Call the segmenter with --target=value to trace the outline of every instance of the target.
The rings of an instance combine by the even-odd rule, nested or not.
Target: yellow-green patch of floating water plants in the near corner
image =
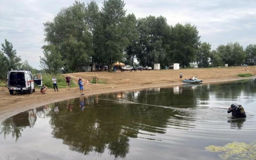
[[[221,152],[219,154],[222,159],[256,159],[256,142],[249,144],[241,142],[228,143],[223,146],[207,146],[205,150],[212,152]]]

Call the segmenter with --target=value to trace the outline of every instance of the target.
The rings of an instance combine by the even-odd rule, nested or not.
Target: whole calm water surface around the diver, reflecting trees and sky
[[[0,123],[0,159],[220,159],[205,147],[256,140],[255,85],[149,88],[34,108]],[[246,119],[227,113],[232,103]]]

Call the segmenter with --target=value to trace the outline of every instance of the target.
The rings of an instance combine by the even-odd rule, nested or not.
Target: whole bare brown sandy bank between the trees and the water
[[[246,69],[244,71],[243,69]],[[249,70],[249,71],[247,71]],[[180,70],[158,70],[137,72],[97,72],[100,80],[108,84],[84,85],[85,95],[102,94],[109,92],[139,90],[147,87],[164,87],[184,84],[179,80],[179,73],[183,73],[183,79],[198,76],[204,83],[221,82],[243,79],[237,77],[239,73],[251,73],[256,75],[256,67],[229,67],[229,68],[203,68],[203,69],[180,69]],[[94,73],[70,73],[71,76],[92,80]],[[73,77],[73,78],[74,78]],[[76,79],[76,78],[74,78]],[[52,87],[52,86],[51,86]],[[36,89],[32,94],[10,95],[6,87],[0,87],[0,120],[18,114],[30,108],[44,104],[79,97],[78,87],[59,89],[54,92],[48,89],[46,94],[41,94]]]

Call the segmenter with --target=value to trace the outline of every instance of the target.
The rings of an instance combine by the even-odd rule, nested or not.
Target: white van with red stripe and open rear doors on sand
[[[10,94],[16,92],[28,92],[31,94],[31,91],[35,92],[35,84],[37,86],[42,86],[42,74],[36,73],[33,77],[32,73],[29,70],[12,70],[7,73],[7,87]]]

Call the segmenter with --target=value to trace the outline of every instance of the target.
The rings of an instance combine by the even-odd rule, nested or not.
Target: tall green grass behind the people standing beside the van
[[[52,85],[52,76],[54,74],[49,74],[49,73],[43,73],[42,77],[43,77],[43,85],[46,85],[49,88],[53,88]],[[63,75],[61,74],[56,74],[55,78],[57,79],[57,86],[58,88],[66,88],[66,79]],[[73,78],[71,77],[71,81],[70,81],[70,87],[77,87],[77,82],[76,80],[74,81]]]

